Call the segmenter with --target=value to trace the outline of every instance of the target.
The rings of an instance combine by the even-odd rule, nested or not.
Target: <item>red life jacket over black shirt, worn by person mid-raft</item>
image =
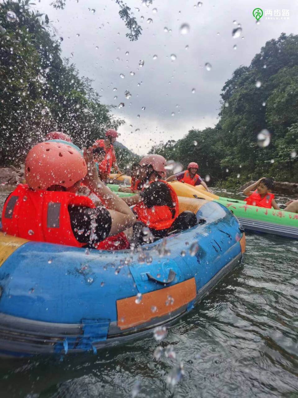
[[[146,224],[149,228],[156,230],[162,230],[170,228],[179,213],[178,197],[174,189],[166,181],[159,179],[159,181],[164,182],[168,189],[173,201],[173,207],[164,206],[152,206],[150,208],[146,207],[143,202],[138,203],[134,207],[134,212],[137,214],[137,218]],[[149,182],[149,184],[154,181]],[[143,191],[144,187],[142,188]],[[175,211],[174,216],[172,211]]]

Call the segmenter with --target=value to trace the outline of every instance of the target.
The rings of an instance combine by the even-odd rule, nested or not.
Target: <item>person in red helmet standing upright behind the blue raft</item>
[[[104,160],[99,164],[99,173],[104,177],[104,181],[108,178],[111,172],[112,166],[116,170],[117,173],[121,173],[118,168],[115,150],[114,150],[114,142],[119,137],[119,134],[114,129],[108,129],[105,134],[106,138],[104,140],[96,140],[93,144],[93,149],[98,148],[99,146],[104,148],[106,153]]]

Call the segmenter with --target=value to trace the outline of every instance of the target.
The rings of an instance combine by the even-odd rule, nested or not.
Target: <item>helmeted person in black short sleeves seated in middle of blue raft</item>
[[[128,205],[135,205],[134,213],[147,226],[153,236],[165,236],[178,216],[178,197],[174,189],[163,178],[166,160],[161,155],[147,155],[140,162],[139,179],[141,192],[123,198]]]

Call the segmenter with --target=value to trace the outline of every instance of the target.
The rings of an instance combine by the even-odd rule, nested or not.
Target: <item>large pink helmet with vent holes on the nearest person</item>
[[[66,143],[41,142],[33,146],[25,161],[25,180],[33,189],[47,189],[51,185],[69,188],[86,174],[83,156]]]

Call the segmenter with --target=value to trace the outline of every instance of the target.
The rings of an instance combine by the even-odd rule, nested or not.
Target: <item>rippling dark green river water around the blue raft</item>
[[[0,396],[297,398],[298,241],[247,234],[246,242],[241,265],[160,343],[149,334],[97,355],[0,359]],[[170,345],[176,359],[157,361],[158,345]],[[184,375],[169,386],[181,362]]]

